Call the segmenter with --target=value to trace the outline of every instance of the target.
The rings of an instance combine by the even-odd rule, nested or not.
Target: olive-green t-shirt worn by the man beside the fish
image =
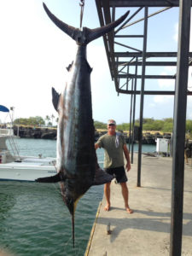
[[[104,134],[97,141],[99,147],[104,148],[104,168],[124,166],[123,146],[125,137],[116,133],[113,136]]]

